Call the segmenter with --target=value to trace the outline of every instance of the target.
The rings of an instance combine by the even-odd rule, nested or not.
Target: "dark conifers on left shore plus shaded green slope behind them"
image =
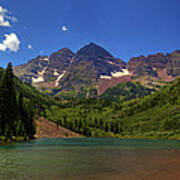
[[[0,140],[22,141],[34,138],[35,115],[56,104],[13,74],[11,63],[0,69]]]

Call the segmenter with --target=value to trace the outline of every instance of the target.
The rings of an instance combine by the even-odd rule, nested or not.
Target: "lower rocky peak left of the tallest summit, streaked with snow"
[[[68,48],[48,56],[38,56],[27,64],[14,67],[14,73],[23,81],[38,88],[55,88],[68,69],[74,53]]]

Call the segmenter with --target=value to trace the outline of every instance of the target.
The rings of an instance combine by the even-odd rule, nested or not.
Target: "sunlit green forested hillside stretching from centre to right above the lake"
[[[180,79],[130,101],[74,100],[43,116],[90,137],[180,138]]]

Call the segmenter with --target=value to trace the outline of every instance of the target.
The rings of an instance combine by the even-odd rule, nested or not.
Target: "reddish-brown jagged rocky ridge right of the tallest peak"
[[[180,51],[133,57],[129,60],[127,69],[132,73],[132,79],[143,81],[147,86],[159,84],[159,81],[172,81],[180,75]]]

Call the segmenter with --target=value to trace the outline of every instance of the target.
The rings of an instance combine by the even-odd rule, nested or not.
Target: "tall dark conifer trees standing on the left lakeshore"
[[[1,140],[25,140],[35,134],[34,108],[23,90],[17,91],[12,65],[1,70],[0,81],[0,138]]]

